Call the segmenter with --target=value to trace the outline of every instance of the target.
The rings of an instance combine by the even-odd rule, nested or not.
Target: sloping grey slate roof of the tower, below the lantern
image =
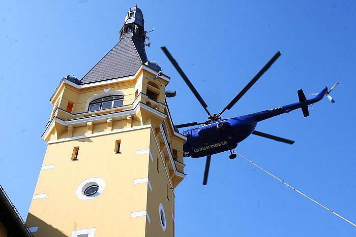
[[[135,75],[142,63],[147,61],[144,46],[134,37],[120,41],[80,80],[91,83]]]

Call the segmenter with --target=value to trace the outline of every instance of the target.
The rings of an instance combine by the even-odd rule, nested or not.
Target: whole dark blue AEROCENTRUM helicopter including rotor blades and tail
[[[286,106],[278,106],[257,113],[243,115],[240,117],[222,119],[221,115],[226,110],[230,110],[236,104],[236,102],[238,102],[238,100],[241,99],[241,97],[253,86],[253,84],[271,67],[271,65],[279,58],[279,56],[281,56],[280,51],[278,51],[262,67],[262,69],[251,79],[251,81],[239,92],[238,95],[236,95],[230,101],[230,103],[220,113],[212,115],[209,110],[207,110],[207,105],[205,101],[195,89],[193,84],[190,82],[188,77],[185,75],[179,64],[172,57],[168,49],[165,46],[162,46],[161,49],[163,50],[169,61],[173,64],[176,71],[181,75],[185,83],[188,85],[188,87],[193,92],[193,94],[198,99],[199,103],[208,115],[208,120],[205,122],[191,122],[175,125],[176,128],[196,126],[183,131],[183,135],[187,137],[187,142],[183,146],[183,151],[185,157],[191,156],[192,158],[199,158],[206,156],[203,185],[207,184],[207,177],[209,175],[212,155],[224,151],[230,151],[229,158],[236,158],[236,154],[234,153],[235,148],[240,142],[245,140],[251,134],[263,138],[273,139],[275,141],[287,143],[290,145],[294,143],[294,141],[292,140],[255,130],[258,122],[284,113],[289,113],[299,108],[302,109],[304,117],[308,117],[308,107],[320,101],[324,97],[324,95],[327,95],[329,100],[332,103],[335,103],[335,100],[330,96],[330,92],[334,90],[335,87],[339,85],[339,83],[336,83],[334,86],[332,86],[330,90],[328,89],[328,87],[325,86],[325,88],[319,93],[310,94],[316,95],[314,98],[311,99],[307,99],[303,90],[300,89],[298,90],[299,102],[297,103],[293,103]]]

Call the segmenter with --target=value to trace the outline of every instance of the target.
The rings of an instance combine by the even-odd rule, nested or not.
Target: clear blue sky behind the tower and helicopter
[[[81,78],[116,44],[135,4],[146,30],[155,27],[147,56],[172,78],[167,89],[177,90],[168,99],[175,124],[206,114],[161,45],[211,112],[281,51],[224,118],[294,103],[298,89],[308,95],[340,82],[336,104],[323,99],[308,118],[297,110],[257,125],[294,145],[251,135],[236,150],[356,222],[354,1],[1,1],[0,183],[22,217],[45,154],[51,94],[62,77]],[[176,236],[356,236],[355,227],[228,152],[213,156],[207,186],[205,158],[185,163],[187,177],[175,191]]]

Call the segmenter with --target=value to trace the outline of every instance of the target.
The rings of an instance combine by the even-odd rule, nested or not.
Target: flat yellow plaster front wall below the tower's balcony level
[[[26,221],[30,227],[39,226],[35,236],[58,236],[58,231],[71,236],[73,230],[92,227],[97,228],[95,236],[145,236],[145,217],[130,214],[146,210],[147,184],[133,185],[133,180],[148,176],[149,154],[136,155],[136,151],[150,148],[150,129],[48,145],[43,165],[54,164],[54,168],[40,172],[34,193],[47,197],[32,201]],[[118,154],[113,153],[116,140],[122,141]],[[78,160],[72,161],[77,146]],[[77,186],[92,177],[104,179],[103,193],[91,200],[79,199]],[[46,231],[41,231],[41,223]]]

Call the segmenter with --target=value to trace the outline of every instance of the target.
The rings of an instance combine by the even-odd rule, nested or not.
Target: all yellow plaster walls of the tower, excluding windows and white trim
[[[131,105],[134,101],[135,91],[146,93],[150,88],[147,82],[153,81],[159,87],[158,101],[165,104],[164,88],[167,82],[146,77],[154,77],[149,72],[142,70],[135,79],[116,82],[108,85],[77,89],[64,84],[54,96],[51,103],[66,110],[68,101],[74,103],[73,114],[86,112],[89,98],[109,91],[124,92],[124,106]],[[162,86],[161,86],[162,84]],[[146,99],[141,98],[145,103]],[[130,108],[131,109],[131,108]],[[120,111],[95,112],[96,115]],[[160,105],[159,110],[164,111]],[[53,113],[53,112],[52,112]],[[56,112],[58,118],[70,122],[73,116],[64,112]],[[93,113],[94,114],[94,113]],[[166,113],[167,114],[167,113]],[[62,116],[62,117],[61,117]],[[71,117],[72,116],[72,117]],[[80,115],[79,115],[80,116]],[[85,115],[90,118],[92,115]],[[78,118],[78,117],[76,117]],[[175,187],[183,178],[174,176],[172,164],[167,154],[160,156],[161,150],[166,149],[164,143],[156,143],[159,135],[159,124],[163,118],[147,109],[139,109],[135,115],[127,119],[110,122],[112,128],[105,121],[95,121],[93,126],[87,125],[62,125],[55,123],[46,141],[51,142],[45,154],[43,165],[54,164],[51,170],[40,172],[34,194],[47,193],[46,198],[32,201],[27,225],[39,226],[35,236],[71,236],[73,230],[95,227],[95,236],[173,236],[174,222],[174,193],[171,185]],[[176,137],[171,129],[171,124],[166,118],[168,127],[168,142],[178,151],[178,160],[183,163],[184,140]],[[142,125],[151,125],[142,128]],[[88,130],[88,128],[93,130]],[[139,129],[137,129],[140,127]],[[118,130],[123,129],[124,130]],[[129,130],[127,130],[129,129]],[[157,130],[158,129],[158,130]],[[98,136],[98,132],[111,132]],[[117,131],[118,130],[118,131]],[[71,135],[70,135],[71,134]],[[78,136],[89,136],[78,139]],[[70,138],[71,140],[66,140]],[[65,142],[56,142],[65,139]],[[115,154],[115,141],[121,140],[121,152]],[[53,143],[54,142],[54,143]],[[78,160],[72,161],[74,147],[79,147]],[[136,155],[136,151],[150,149],[150,154]],[[160,172],[157,172],[157,163]],[[174,165],[174,164],[173,164]],[[183,167],[177,167],[183,172]],[[167,174],[168,173],[168,174]],[[102,194],[91,200],[81,200],[76,196],[77,186],[88,178],[99,177],[105,180],[106,187]],[[174,178],[175,177],[175,178]],[[149,178],[152,191],[147,183],[133,184],[134,179]],[[171,180],[171,183],[170,183]],[[167,187],[168,196],[167,199]],[[163,231],[159,220],[159,204],[162,204],[166,214],[166,230]],[[146,217],[131,218],[131,212],[147,210],[151,223]]]

